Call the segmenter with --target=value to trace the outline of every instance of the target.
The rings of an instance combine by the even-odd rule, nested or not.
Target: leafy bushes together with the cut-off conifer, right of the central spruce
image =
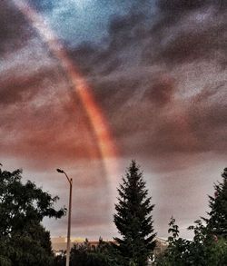
[[[224,266],[227,265],[227,169],[222,173],[223,182],[214,185],[214,197],[210,198],[209,218],[194,222],[188,229],[194,233],[192,241],[179,238],[178,226],[172,218],[169,223],[169,247],[157,259],[157,265],[165,266]]]

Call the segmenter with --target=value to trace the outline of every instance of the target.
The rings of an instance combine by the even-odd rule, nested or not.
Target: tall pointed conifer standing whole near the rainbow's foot
[[[151,255],[156,233],[153,233],[153,211],[151,197],[143,181],[143,172],[132,161],[123,184],[118,189],[118,203],[115,204],[114,223],[123,239],[114,238],[125,265],[143,266]]]

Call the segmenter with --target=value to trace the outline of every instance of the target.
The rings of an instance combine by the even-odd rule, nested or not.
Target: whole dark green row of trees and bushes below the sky
[[[22,171],[0,169],[0,266],[63,266],[65,254],[54,256],[44,217],[61,218],[65,209],[54,209],[58,197],[37,188],[34,182],[22,183]],[[97,246],[88,240],[75,244],[71,266],[224,266],[227,265],[227,168],[222,182],[214,184],[206,218],[188,229],[192,241],[180,237],[171,218],[168,247],[154,258],[156,233],[153,229],[152,198],[146,189],[143,172],[134,161],[118,188],[114,223],[121,237],[112,243],[100,238]]]

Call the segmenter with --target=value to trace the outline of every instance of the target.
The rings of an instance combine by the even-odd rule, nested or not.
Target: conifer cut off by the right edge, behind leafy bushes
[[[209,196],[211,212],[207,222],[207,230],[213,237],[227,240],[227,168],[222,172],[222,182],[214,184],[214,196]]]

